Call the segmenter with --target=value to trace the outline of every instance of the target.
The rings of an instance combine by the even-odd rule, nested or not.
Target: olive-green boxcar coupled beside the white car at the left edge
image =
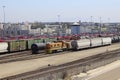
[[[8,50],[9,52],[14,52],[14,51],[22,51],[26,50],[26,40],[13,40],[13,41],[8,41]]]

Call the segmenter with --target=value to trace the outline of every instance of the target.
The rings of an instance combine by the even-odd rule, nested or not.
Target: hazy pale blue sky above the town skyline
[[[3,6],[6,22],[120,22],[120,0],[0,0],[0,22]]]

